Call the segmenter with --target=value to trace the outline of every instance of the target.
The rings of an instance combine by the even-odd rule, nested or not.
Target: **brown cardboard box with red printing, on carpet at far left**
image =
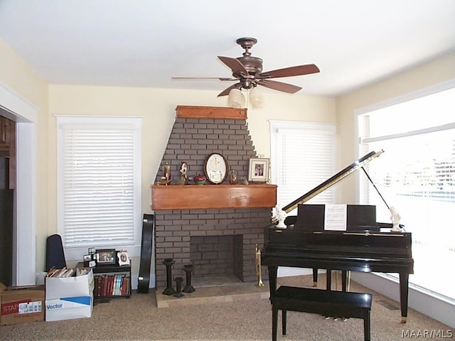
[[[0,283],[0,325],[44,320],[44,286],[9,286]]]

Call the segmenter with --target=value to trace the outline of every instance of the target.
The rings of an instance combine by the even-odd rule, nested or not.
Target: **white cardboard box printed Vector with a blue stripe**
[[[93,310],[93,272],[82,276],[45,278],[45,320],[90,318]]]

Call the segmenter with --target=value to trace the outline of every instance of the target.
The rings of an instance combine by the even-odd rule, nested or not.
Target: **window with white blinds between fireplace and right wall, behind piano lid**
[[[272,183],[277,202],[288,205],[330,178],[334,172],[336,126],[295,121],[271,121]],[[333,203],[333,188],[307,203]],[[296,210],[288,215],[296,215]]]

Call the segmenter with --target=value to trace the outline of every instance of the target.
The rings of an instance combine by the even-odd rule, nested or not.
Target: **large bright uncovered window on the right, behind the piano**
[[[385,151],[368,164],[368,173],[412,232],[410,283],[452,300],[447,266],[455,263],[454,112],[452,88],[358,116],[360,154]],[[360,200],[376,205],[378,221],[390,222],[378,193],[360,179]]]

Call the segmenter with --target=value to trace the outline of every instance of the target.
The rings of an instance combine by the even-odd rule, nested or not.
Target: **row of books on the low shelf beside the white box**
[[[129,274],[95,274],[95,297],[129,296]]]

